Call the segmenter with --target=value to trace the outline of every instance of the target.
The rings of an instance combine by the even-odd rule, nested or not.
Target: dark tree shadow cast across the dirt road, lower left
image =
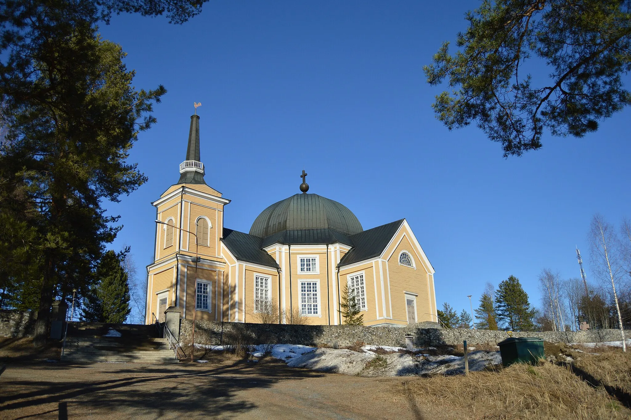
[[[33,366],[33,369],[38,369],[38,366]],[[239,399],[237,392],[271,387],[281,380],[322,376],[321,373],[291,369],[276,363],[257,366],[245,361],[208,367],[179,364],[114,368],[112,365],[111,369],[99,369],[93,375],[86,369],[81,375],[85,376],[74,383],[37,378],[3,381],[6,393],[0,397],[0,410],[19,410],[73,400],[72,404],[80,405],[81,409],[120,412],[128,416],[150,414],[158,418],[168,413],[187,412],[229,417],[256,409],[256,404]],[[12,387],[18,388],[18,391],[11,393]]]

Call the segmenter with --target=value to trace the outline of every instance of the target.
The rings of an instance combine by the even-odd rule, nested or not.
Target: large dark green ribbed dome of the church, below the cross
[[[357,216],[345,205],[317,194],[296,194],[263,210],[250,234],[266,237],[304,229],[333,229],[346,235],[363,232]]]

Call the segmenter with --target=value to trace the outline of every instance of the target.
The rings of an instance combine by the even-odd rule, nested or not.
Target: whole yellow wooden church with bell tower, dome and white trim
[[[369,326],[437,321],[434,269],[405,219],[364,230],[337,201],[300,193],[271,204],[249,233],[223,225],[230,200],[204,181],[199,116],[180,179],[156,208],[146,323],[165,309],[197,320],[339,325],[344,285]],[[296,319],[295,319],[296,318]]]

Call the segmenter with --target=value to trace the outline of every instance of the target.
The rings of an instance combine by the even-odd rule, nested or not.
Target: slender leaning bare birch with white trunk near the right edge
[[[607,223],[599,214],[595,214],[589,227],[589,244],[591,246],[591,260],[594,273],[604,282],[611,282],[613,302],[618,313],[618,327],[622,335],[622,351],[627,351],[625,330],[622,327],[622,315],[616,293],[616,282],[623,275],[622,259],[620,258],[620,239],[616,235],[613,225]]]

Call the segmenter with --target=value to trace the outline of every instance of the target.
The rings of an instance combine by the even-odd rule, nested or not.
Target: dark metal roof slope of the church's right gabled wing
[[[353,248],[341,258],[339,267],[369,260],[370,258],[376,258],[381,255],[392,239],[392,236],[396,234],[401,224],[403,224],[403,220],[405,219],[373,227],[372,229],[351,236]]]

